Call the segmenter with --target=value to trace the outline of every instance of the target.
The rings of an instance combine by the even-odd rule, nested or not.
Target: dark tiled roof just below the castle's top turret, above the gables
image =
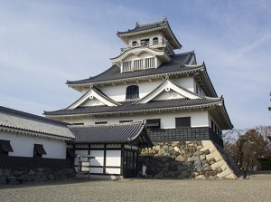
[[[194,55],[194,52],[189,53],[180,53],[174,54],[172,57],[172,61],[170,63],[163,63],[158,68],[155,69],[146,69],[144,71],[135,71],[135,72],[120,72],[120,69],[117,65],[113,65],[107,71],[98,74],[97,76],[90,77],[85,80],[79,81],[67,81],[68,85],[76,85],[76,84],[87,84],[93,82],[106,82],[106,81],[114,81],[114,80],[123,80],[144,76],[155,76],[159,74],[173,73],[173,72],[185,72],[195,69],[193,66],[184,66],[190,62],[190,59]]]

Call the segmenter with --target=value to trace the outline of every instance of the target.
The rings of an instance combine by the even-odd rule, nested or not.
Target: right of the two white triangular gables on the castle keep
[[[176,82],[173,82],[169,79],[165,79],[164,82],[162,82],[159,86],[157,86],[154,91],[151,91],[148,93],[144,98],[140,99],[139,101],[135,101],[134,104],[144,104],[148,101],[152,101],[154,97],[162,93],[162,91],[175,91],[176,93],[182,95],[182,97],[188,98],[188,99],[201,99],[201,96],[196,95],[192,91],[188,91],[185,88],[182,88],[182,86],[178,85]]]

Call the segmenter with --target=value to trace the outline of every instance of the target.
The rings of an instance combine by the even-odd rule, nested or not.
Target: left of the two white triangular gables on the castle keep
[[[105,93],[100,91],[97,87],[92,86],[89,91],[83,94],[79,100],[72,103],[67,109],[72,110],[79,107],[84,101],[88,101],[89,99],[96,98],[98,101],[103,102],[107,106],[117,106],[120,105],[117,101],[112,100],[109,98]]]

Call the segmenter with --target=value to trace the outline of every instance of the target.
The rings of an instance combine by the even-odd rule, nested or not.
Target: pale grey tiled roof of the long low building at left
[[[67,123],[0,106],[0,127],[41,133],[55,138],[74,138]]]

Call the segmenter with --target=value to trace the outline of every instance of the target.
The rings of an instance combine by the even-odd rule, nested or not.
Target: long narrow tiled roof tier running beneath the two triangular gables
[[[61,115],[98,115],[107,113],[129,113],[133,111],[151,111],[151,110],[163,110],[174,108],[186,108],[193,106],[203,106],[209,104],[220,103],[221,98],[203,98],[203,99],[173,99],[162,101],[149,101],[144,104],[133,104],[134,101],[121,102],[120,106],[94,106],[94,107],[81,107],[74,110],[60,110],[60,111],[44,111],[46,116],[61,116]]]

